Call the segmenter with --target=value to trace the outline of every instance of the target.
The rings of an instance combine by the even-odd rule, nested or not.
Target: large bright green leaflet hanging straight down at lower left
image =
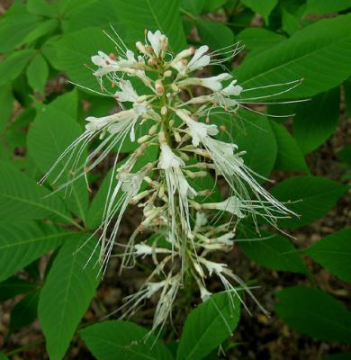
[[[81,235],[79,241],[72,239],[60,248],[40,293],[39,320],[50,360],[65,355],[99,284],[99,266],[94,266],[98,249],[94,251],[94,239],[82,247],[87,237]]]

